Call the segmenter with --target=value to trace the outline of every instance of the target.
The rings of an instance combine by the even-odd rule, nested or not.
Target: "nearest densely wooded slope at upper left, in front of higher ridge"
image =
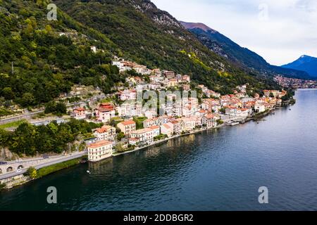
[[[0,107],[46,103],[74,84],[109,93],[125,80],[111,65],[120,51],[116,44],[63,11],[58,11],[58,21],[47,20],[47,4],[0,1]],[[91,46],[103,51],[93,53]]]

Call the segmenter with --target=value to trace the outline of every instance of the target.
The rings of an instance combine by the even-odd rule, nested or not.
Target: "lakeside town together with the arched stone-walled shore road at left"
[[[3,176],[0,179],[10,182],[14,176],[21,179],[27,167],[41,168],[83,155],[87,155],[89,162],[98,162],[178,136],[224,125],[234,126],[280,107],[282,98],[287,95],[285,90],[263,90],[262,95],[249,96],[248,84],[237,86],[232,94],[221,95],[203,84],[192,82],[189,75],[150,70],[121,58],[115,58],[112,64],[120,73],[130,74],[125,84],[116,87],[115,93],[103,94],[93,87],[74,86],[73,91],[59,99],[66,101],[67,115],[44,118],[35,115],[25,119],[35,126],[69,120],[101,124],[92,130],[92,135],[77,140],[80,146],[73,153],[65,151],[63,155],[42,159],[38,156],[36,159],[18,158],[8,165],[4,162],[0,165],[0,176]],[[75,99],[75,103],[70,99]],[[40,109],[39,114],[43,110]],[[8,126],[7,129],[13,131],[15,127]],[[15,169],[14,164],[19,166]]]

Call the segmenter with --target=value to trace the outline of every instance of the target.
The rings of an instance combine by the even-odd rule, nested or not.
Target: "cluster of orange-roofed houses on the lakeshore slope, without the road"
[[[120,104],[112,101],[99,103],[96,108],[73,108],[72,117],[77,120],[101,122],[103,127],[94,130],[94,137],[86,139],[88,160],[97,162],[112,155],[138,150],[160,141],[193,132],[213,129],[225,124],[243,123],[254,115],[263,114],[282,104],[287,91],[264,90],[263,96],[247,95],[247,84],[237,86],[232,94],[221,96],[204,85],[198,85],[203,98],[178,98],[166,95],[158,108],[145,108],[137,101],[138,93],[146,91],[192,91],[188,75],[154,69],[123,59],[113,60],[120,72],[135,70],[139,76],[127,78],[128,87],[118,87],[114,95]],[[149,79],[145,81],[143,76]],[[194,92],[194,91],[193,91]]]

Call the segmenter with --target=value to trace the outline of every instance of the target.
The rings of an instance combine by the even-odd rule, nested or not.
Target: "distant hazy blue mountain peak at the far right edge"
[[[317,77],[317,58],[304,55],[292,63],[282,65],[282,68],[302,70],[307,72],[311,77]]]

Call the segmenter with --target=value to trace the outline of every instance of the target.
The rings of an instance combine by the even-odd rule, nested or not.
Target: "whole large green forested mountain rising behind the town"
[[[57,21],[46,18],[52,2]],[[74,84],[111,93],[125,82],[113,56],[188,74],[221,94],[245,83],[278,88],[210,51],[148,0],[0,0],[0,24],[0,108],[41,105]]]

